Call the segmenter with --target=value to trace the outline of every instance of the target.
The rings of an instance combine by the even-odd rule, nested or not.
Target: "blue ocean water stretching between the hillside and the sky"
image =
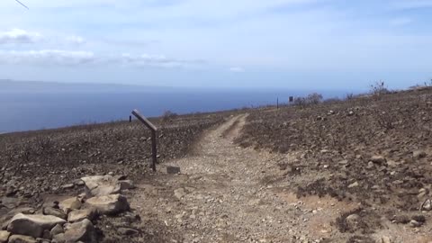
[[[121,94],[0,94],[0,133],[58,128],[91,122],[129,119],[133,109],[148,117],[165,111],[179,114],[214,112],[266,104],[287,103],[289,91],[139,92]],[[321,93],[325,97],[345,92]]]

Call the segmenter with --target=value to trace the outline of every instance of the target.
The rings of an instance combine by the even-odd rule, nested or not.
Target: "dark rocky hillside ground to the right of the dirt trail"
[[[356,204],[354,211],[338,208],[334,220],[339,233],[356,235],[349,242],[374,242],[381,234],[392,242],[428,242],[432,219],[420,206],[432,182],[431,120],[429,88],[252,112],[236,142],[286,156],[275,161],[284,175],[269,184],[299,200],[330,196]],[[350,214],[359,216],[355,227],[347,225]],[[410,228],[413,219],[425,224]]]

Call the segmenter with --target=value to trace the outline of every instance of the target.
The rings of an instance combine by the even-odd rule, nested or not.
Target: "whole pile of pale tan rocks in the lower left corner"
[[[117,215],[130,210],[121,190],[134,188],[125,176],[94,175],[81,178],[85,193],[53,202],[41,210],[22,209],[0,230],[0,243],[97,242],[92,220],[101,215]],[[7,216],[7,215],[6,215]]]

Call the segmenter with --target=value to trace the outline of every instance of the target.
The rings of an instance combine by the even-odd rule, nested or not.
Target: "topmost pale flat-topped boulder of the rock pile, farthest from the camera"
[[[121,185],[112,175],[94,175],[81,178],[85,183],[87,197],[120,193]]]

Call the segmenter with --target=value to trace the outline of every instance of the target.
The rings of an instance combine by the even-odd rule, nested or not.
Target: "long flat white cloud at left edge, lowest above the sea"
[[[76,66],[95,61],[94,53],[88,51],[42,49],[0,52],[0,63],[4,64]]]

